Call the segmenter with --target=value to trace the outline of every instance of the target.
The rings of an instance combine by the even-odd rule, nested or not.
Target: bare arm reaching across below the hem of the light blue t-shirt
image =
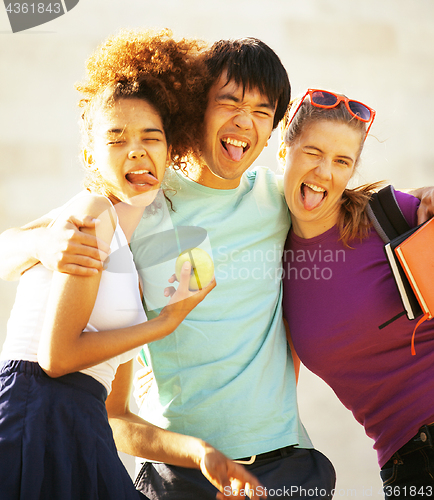
[[[119,450],[149,460],[200,469],[220,492],[225,492],[219,498],[233,498],[228,493],[231,489],[260,491],[261,485],[254,476],[205,441],[166,431],[132,413],[129,408],[132,379],[133,362],[120,365],[106,402]]]

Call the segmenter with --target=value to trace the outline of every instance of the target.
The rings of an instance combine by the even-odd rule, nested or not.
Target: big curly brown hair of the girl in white
[[[175,40],[168,29],[122,30],[103,42],[86,62],[86,79],[76,84],[83,94],[82,149],[92,147],[97,109],[139,98],[159,112],[173,165],[182,168],[200,147],[208,85],[205,48],[200,40]],[[100,183],[98,173],[87,169],[85,187],[102,192]]]

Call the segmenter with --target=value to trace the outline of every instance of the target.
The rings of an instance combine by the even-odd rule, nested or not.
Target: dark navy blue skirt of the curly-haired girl
[[[108,423],[107,391],[83,373],[0,364],[1,500],[138,500]]]

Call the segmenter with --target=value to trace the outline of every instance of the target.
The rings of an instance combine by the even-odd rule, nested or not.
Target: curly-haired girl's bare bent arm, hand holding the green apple
[[[113,207],[102,197],[87,197],[74,207],[99,217],[98,238],[113,237]],[[86,231],[95,234],[94,229]],[[197,293],[190,292],[190,264],[183,268],[178,289],[156,318],[129,328],[83,331],[98,293],[101,271],[94,276],[55,272],[38,350],[38,362],[46,373],[58,377],[106,361],[121,353],[161,339],[175,330],[187,314],[214,288],[215,280]]]

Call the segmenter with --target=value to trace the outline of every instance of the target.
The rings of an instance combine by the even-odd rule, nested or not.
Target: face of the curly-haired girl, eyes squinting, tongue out
[[[110,108],[98,109],[92,150],[85,155],[90,167],[97,168],[112,201],[151,204],[168,159],[159,113],[141,99],[119,99]]]

